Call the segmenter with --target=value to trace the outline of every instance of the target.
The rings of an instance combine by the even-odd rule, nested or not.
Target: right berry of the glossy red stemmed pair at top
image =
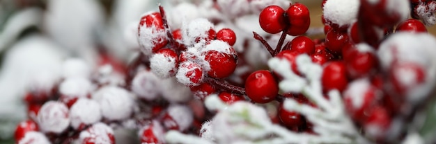
[[[288,35],[302,35],[311,25],[309,9],[301,3],[295,3],[286,10],[289,21]]]

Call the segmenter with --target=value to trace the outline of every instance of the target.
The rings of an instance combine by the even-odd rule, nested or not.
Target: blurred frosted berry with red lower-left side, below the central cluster
[[[162,125],[166,129],[185,131],[191,126],[193,120],[194,114],[189,107],[185,105],[171,105],[168,107],[164,118],[162,118]]]

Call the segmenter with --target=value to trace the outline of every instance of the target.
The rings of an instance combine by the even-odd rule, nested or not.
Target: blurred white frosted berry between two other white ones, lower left
[[[100,105],[95,100],[79,98],[70,109],[71,126],[82,129],[102,119]]]

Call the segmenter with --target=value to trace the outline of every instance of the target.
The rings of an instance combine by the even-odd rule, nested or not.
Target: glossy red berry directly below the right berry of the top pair
[[[315,52],[315,43],[309,37],[298,36],[290,42],[290,51],[311,55]]]

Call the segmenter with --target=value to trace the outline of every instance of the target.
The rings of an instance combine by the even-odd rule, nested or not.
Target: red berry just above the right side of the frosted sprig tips
[[[322,71],[322,88],[325,91],[338,89],[343,91],[347,87],[348,80],[346,76],[345,64],[343,62],[330,62]]]

